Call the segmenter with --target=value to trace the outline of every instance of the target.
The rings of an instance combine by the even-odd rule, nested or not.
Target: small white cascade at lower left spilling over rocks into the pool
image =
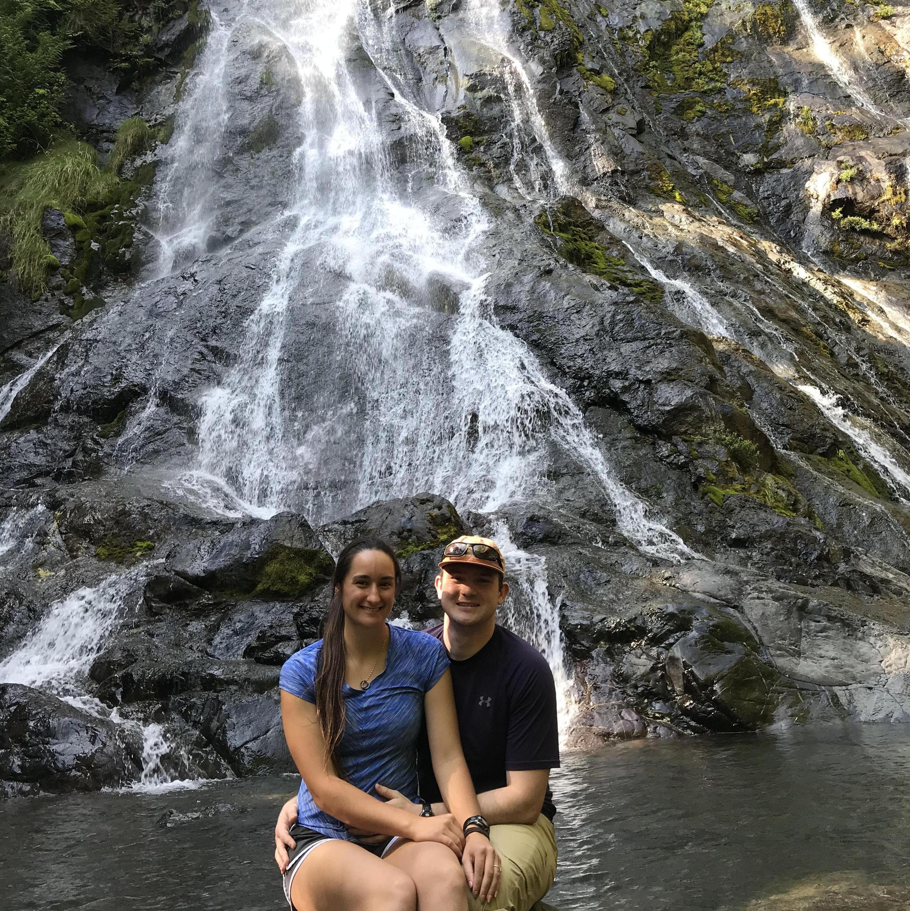
[[[43,507],[37,507],[43,508]],[[126,601],[136,588],[136,570],[108,576],[94,588],[77,589],[55,601],[38,625],[5,660],[0,661],[0,683],[19,683],[47,691],[79,711],[131,728],[143,741],[143,771],[134,787],[161,790],[196,786],[174,781],[161,759],[180,748],[167,740],[160,724],[144,725],[121,717],[103,702],[86,693],[83,681],[92,662],[101,653],[108,636],[116,630],[126,610]]]

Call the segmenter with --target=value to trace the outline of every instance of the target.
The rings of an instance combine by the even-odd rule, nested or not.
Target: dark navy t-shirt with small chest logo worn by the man
[[[442,640],[442,626],[427,630]],[[506,772],[555,769],[560,764],[556,687],[541,653],[497,626],[476,655],[450,659],[461,748],[477,793],[506,786]],[[420,796],[439,803],[426,730],[418,742]],[[552,819],[556,807],[547,789],[541,813]]]

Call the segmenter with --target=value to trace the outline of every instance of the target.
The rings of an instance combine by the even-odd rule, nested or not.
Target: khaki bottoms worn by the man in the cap
[[[556,876],[556,833],[546,816],[533,825],[494,825],[490,842],[502,858],[499,894],[487,904],[470,895],[470,911],[529,911]]]

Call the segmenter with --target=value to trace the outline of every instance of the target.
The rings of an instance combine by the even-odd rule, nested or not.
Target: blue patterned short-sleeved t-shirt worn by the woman
[[[292,696],[316,702],[316,671],[322,640],[285,661],[279,686]],[[440,640],[425,632],[389,625],[386,668],[368,690],[342,683],[345,731],[339,761],[345,778],[371,797],[377,784],[417,797],[417,739],[423,723],[423,697],[449,667]],[[341,771],[341,770],[339,770]],[[313,803],[307,783],[300,781],[298,823],[333,838],[348,839],[348,830]]]

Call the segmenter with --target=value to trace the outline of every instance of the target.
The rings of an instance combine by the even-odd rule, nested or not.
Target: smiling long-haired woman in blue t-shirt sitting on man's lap
[[[400,584],[388,544],[350,544],[335,567],[322,640],[281,669],[281,719],[302,778],[297,847],[284,874],[295,911],[467,911],[466,879],[483,900],[497,892],[499,855],[461,753],[445,649],[386,622]],[[373,795],[381,782],[417,796],[424,712],[433,772],[452,810],[441,816]],[[351,831],[377,835],[357,840]]]

